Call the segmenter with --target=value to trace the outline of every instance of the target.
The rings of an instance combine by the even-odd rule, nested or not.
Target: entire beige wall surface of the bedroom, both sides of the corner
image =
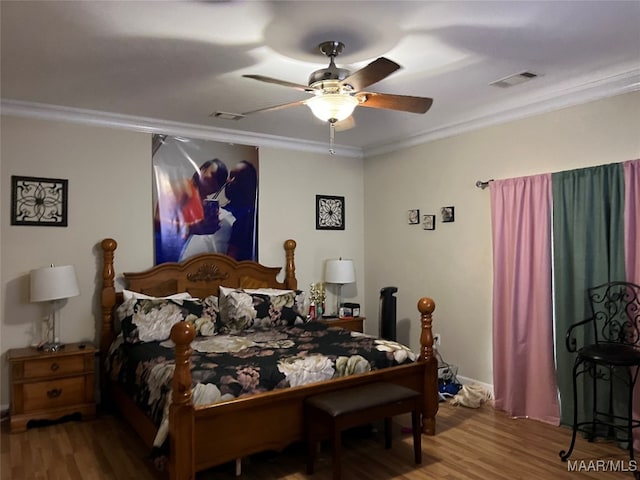
[[[366,331],[378,332],[380,288],[396,286],[398,339],[413,348],[419,341],[417,300],[431,296],[444,359],[460,375],[492,383],[489,191],[477,189],[476,180],[638,158],[639,111],[636,92],[364,161],[262,147],[260,261],[282,265],[282,243],[294,238],[297,276],[306,289],[322,279],[325,259],[353,258],[357,282],[343,295],[362,304]],[[29,271],[49,263],[76,266],[81,295],[62,312],[61,337],[91,340],[99,316],[100,240],[119,241],[117,272],[147,268],[153,256],[148,134],[1,120],[0,404],[6,407],[6,351],[31,343],[42,315],[28,302]],[[69,226],[10,226],[11,175],[69,179]],[[346,197],[344,232],[315,230],[316,194]],[[456,207],[452,224],[438,222],[435,231],[424,231],[406,222],[408,209],[437,213],[447,205]],[[328,303],[333,300],[331,295]]]

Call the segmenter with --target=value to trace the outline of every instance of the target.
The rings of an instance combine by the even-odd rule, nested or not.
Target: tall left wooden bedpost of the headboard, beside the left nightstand
[[[118,248],[118,242],[113,238],[105,238],[102,247],[102,329],[100,330],[100,392],[106,395],[107,379],[104,364],[109,354],[109,347],[115,337],[113,331],[113,307],[116,304],[116,289],[114,287],[115,270],[113,268],[113,252]],[[104,400],[104,398],[102,398]]]

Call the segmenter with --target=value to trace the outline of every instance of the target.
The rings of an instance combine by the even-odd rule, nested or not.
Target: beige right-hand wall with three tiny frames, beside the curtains
[[[492,384],[490,199],[475,182],[639,158],[639,112],[635,92],[367,158],[367,309],[397,286],[398,339],[417,348],[416,300],[432,297],[444,360]],[[454,223],[407,224],[449,205]]]

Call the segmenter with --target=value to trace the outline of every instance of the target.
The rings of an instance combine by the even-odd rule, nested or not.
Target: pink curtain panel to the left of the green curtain
[[[551,175],[496,180],[490,189],[495,406],[558,425]]]

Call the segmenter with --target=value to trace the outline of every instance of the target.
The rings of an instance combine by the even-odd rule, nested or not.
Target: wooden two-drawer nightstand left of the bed
[[[95,417],[95,356],[90,343],[69,343],[57,352],[9,350],[11,432],[26,430],[30,420],[56,420],[72,413]]]

